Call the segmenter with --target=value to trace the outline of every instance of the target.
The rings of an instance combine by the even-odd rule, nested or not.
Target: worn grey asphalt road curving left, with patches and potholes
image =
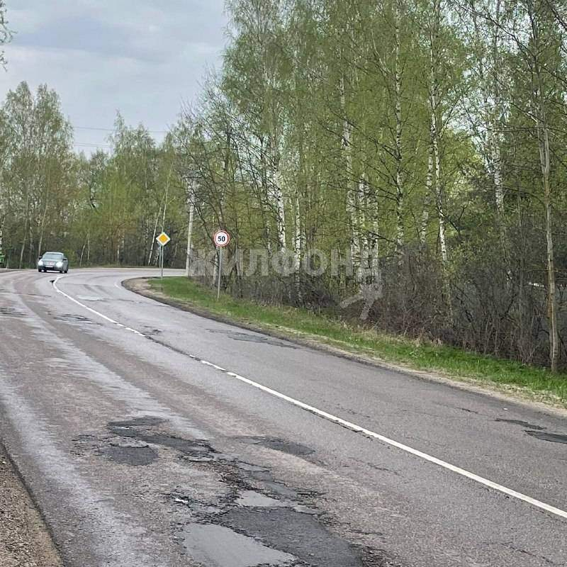
[[[567,565],[567,420],[120,285],[145,274],[0,274],[0,434],[66,566]]]

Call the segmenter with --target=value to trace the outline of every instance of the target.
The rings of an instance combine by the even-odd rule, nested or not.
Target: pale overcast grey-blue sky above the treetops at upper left
[[[223,0],[6,0],[8,67],[0,97],[27,81],[61,97],[78,150],[106,145],[116,111],[130,125],[167,130],[182,101],[220,67]],[[161,139],[160,133],[155,133]]]

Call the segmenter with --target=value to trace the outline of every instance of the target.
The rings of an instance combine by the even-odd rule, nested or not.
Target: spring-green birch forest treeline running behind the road
[[[8,94],[9,264],[47,248],[75,266],[154,264],[166,230],[166,263],[185,266],[224,228],[229,256],[343,262],[267,276],[233,263],[231,293],[357,317],[342,301],[379,280],[366,325],[565,366],[566,1],[226,9],[223,67],[159,144],[118,116],[108,152],[77,155],[53,91]]]

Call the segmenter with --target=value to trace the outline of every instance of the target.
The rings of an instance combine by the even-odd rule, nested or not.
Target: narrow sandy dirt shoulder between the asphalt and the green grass
[[[122,282],[122,285],[124,286],[124,288],[128,289],[128,291],[133,291],[140,296],[159,301],[159,303],[164,303],[171,307],[193,313],[194,315],[198,315],[203,318],[223,322],[227,325],[240,327],[245,330],[263,333],[264,335],[269,335],[270,337],[288,340],[296,344],[301,344],[304,347],[327,352],[328,354],[333,354],[337,357],[356,361],[361,364],[367,364],[369,366],[375,366],[376,368],[380,369],[400,372],[401,374],[406,374],[415,378],[422,378],[427,381],[444,383],[451,388],[459,388],[468,392],[488,395],[492,398],[502,400],[503,402],[524,405],[532,410],[537,410],[549,415],[554,415],[555,417],[567,417],[566,408],[563,408],[560,405],[554,405],[554,403],[548,402],[547,400],[546,402],[541,402],[539,400],[530,399],[529,393],[522,391],[522,388],[516,388],[515,386],[511,385],[506,386],[503,384],[485,382],[477,380],[475,378],[468,378],[466,376],[459,376],[459,378],[457,379],[440,372],[414,369],[411,366],[394,364],[391,361],[386,361],[378,357],[371,357],[366,354],[351,352],[349,350],[339,348],[335,345],[321,342],[315,337],[311,337],[310,335],[306,335],[293,329],[282,330],[281,327],[271,327],[264,324],[256,325],[250,322],[235,320],[225,315],[213,313],[210,310],[202,308],[201,306],[195,305],[193,303],[169,297],[165,293],[161,293],[159,291],[156,291],[155,289],[150,288],[148,280],[149,278],[147,277],[126,279]]]

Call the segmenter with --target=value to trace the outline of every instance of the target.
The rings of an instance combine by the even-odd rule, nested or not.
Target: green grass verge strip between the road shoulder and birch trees
[[[516,391],[532,399],[567,408],[567,374],[551,374],[544,368],[517,361],[483,356],[454,347],[386,335],[308,310],[259,305],[221,294],[184,277],[150,279],[150,286],[166,296],[235,322],[277,330],[279,334],[316,339],[352,354],[363,354],[412,369],[436,371],[466,381],[492,383],[504,391]]]

